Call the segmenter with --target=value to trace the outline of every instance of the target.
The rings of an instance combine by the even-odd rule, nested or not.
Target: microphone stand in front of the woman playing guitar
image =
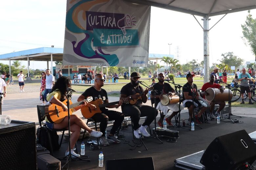
[[[69,112],[69,98],[72,96],[72,90],[68,90],[68,93],[67,93],[67,107],[68,107],[68,130],[69,130],[69,155],[63,157],[63,158],[59,158],[59,159],[67,159],[66,163],[61,167],[61,169],[66,165],[68,164],[70,161],[72,160],[80,160],[80,161],[91,161],[89,159],[82,159],[82,158],[79,158],[75,155],[73,155],[73,157],[75,158],[72,158],[71,156],[71,147],[70,147],[70,112]],[[89,158],[89,156],[84,156],[86,158]]]

